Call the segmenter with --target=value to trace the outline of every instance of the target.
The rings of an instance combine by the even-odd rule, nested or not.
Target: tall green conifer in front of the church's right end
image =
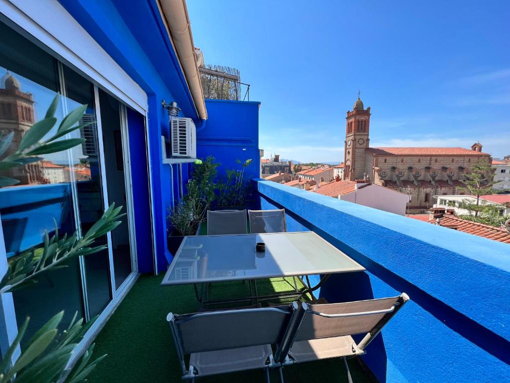
[[[475,217],[482,209],[480,207],[480,196],[494,194],[492,188],[494,180],[494,169],[490,162],[479,160],[472,168],[471,171],[464,176],[465,186],[461,187],[466,193],[476,197],[476,203],[472,206],[471,210],[475,212]]]

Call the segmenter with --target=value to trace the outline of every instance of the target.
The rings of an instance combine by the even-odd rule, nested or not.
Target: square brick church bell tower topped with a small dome
[[[344,180],[363,179],[365,170],[365,150],[369,144],[370,107],[365,109],[358,93],[358,100],[352,111],[347,111],[344,143]]]

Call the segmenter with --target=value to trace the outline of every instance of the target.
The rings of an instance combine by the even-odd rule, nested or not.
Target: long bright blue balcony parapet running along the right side
[[[313,230],[363,265],[321,289],[331,302],[405,292],[411,301],[368,346],[379,381],[508,381],[510,246],[258,180],[263,208]]]

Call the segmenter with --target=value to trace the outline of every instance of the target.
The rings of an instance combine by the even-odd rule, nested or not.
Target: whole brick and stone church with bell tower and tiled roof
[[[369,179],[411,195],[411,209],[425,209],[432,196],[465,194],[462,180],[479,160],[491,163],[480,143],[464,148],[370,148],[370,107],[358,97],[347,111],[344,180]]]

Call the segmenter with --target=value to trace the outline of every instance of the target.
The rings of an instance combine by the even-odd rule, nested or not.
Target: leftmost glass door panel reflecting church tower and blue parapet
[[[1,158],[16,151],[25,132],[44,118],[59,90],[57,61],[0,22],[0,133],[14,134]],[[62,121],[62,106],[59,103],[55,114],[58,122],[48,135]],[[41,157],[41,161],[0,172],[0,176],[19,181],[0,187],[0,217],[8,259],[33,248],[36,255],[40,254],[45,230],[49,235],[56,227],[61,235],[75,230],[68,153]],[[75,312],[84,316],[78,260],[67,266],[44,273],[30,288],[13,293],[18,326],[31,317],[25,342],[61,310],[65,310],[63,327]]]

